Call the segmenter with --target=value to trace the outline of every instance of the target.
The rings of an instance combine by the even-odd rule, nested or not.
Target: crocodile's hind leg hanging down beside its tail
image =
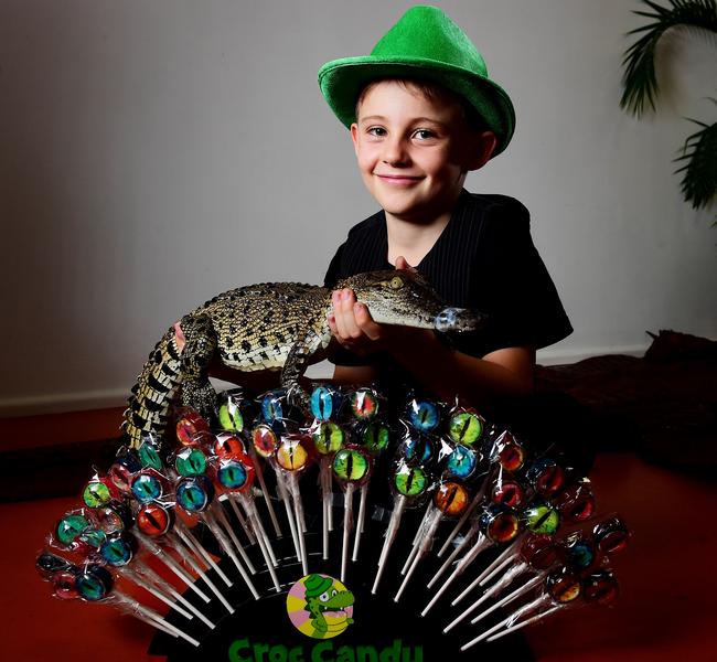
[[[211,424],[216,421],[216,392],[210,383],[210,362],[216,350],[216,333],[206,314],[185,316],[182,351],[182,404],[196,409]]]

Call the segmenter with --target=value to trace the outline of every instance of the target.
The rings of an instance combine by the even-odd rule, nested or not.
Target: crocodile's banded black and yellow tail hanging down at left
[[[121,426],[130,448],[138,448],[146,433],[163,435],[169,409],[182,382],[180,355],[171,328],[150,352],[132,387]]]

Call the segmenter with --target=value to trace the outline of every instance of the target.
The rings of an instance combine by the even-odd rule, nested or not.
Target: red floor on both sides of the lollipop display
[[[526,629],[542,662],[717,660],[717,490],[713,483],[603,455],[592,472],[603,514],[634,531],[614,557],[622,595],[610,609],[575,609]],[[0,505],[2,659],[103,662],[147,655],[151,629],[113,609],[50,597],[34,569],[43,537],[76,498]]]

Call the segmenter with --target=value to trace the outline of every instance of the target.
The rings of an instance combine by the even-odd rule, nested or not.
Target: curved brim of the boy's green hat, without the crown
[[[356,121],[356,100],[372,81],[419,78],[431,81],[462,96],[497,138],[493,157],[511,141],[515,129],[513,104],[500,86],[472,71],[427,58],[343,57],[319,70],[319,86],[334,115],[345,127]]]

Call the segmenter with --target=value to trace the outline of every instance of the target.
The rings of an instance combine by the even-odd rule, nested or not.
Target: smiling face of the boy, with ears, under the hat
[[[465,173],[490,158],[495,140],[470,131],[458,102],[395,81],[366,92],[351,136],[368,192],[386,213],[420,223],[452,209]]]

